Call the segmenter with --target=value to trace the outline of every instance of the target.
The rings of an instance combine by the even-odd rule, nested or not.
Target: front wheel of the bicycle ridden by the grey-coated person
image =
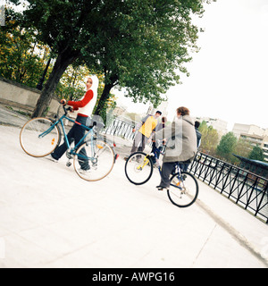
[[[125,164],[125,173],[128,180],[135,185],[146,183],[153,174],[153,163],[150,156],[143,152],[130,155]]]

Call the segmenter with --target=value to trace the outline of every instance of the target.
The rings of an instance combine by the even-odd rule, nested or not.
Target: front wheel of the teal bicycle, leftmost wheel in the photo
[[[50,119],[37,117],[26,122],[21,129],[22,149],[34,157],[51,154],[60,141],[60,131]]]

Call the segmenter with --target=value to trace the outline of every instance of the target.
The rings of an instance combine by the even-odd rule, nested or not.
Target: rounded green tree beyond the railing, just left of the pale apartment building
[[[227,161],[230,161],[237,142],[238,139],[235,137],[233,132],[229,132],[222,136],[220,144],[217,146],[217,155],[221,156]]]

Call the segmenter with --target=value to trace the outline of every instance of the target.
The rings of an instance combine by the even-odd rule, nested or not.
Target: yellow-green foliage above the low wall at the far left
[[[7,11],[5,26],[0,29],[0,76],[36,88],[48,53],[35,31],[23,29],[16,15]]]

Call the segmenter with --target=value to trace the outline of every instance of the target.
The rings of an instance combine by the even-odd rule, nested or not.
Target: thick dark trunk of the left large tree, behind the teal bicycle
[[[70,49],[65,49],[58,55],[56,62],[54,63],[53,71],[51,72],[49,79],[46,81],[46,85],[38,99],[36,108],[31,116],[32,118],[44,115],[63,72],[67,69],[69,64],[73,63],[78,58],[79,55],[79,52],[71,51]]]

